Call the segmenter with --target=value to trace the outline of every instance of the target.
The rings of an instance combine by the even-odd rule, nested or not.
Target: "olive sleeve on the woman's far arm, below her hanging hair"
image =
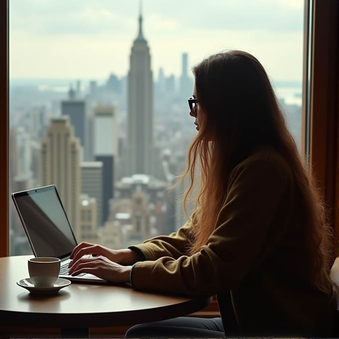
[[[187,250],[187,235],[191,229],[191,221],[187,221],[176,233],[169,236],[157,236],[140,245],[129,246],[143,253],[145,260],[157,260],[162,257],[178,259]]]

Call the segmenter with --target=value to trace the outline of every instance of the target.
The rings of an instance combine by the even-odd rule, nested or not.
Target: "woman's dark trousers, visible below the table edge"
[[[179,317],[131,327],[126,338],[225,338],[221,318]]]

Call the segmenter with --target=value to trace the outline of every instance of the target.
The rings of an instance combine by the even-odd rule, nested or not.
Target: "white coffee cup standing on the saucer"
[[[58,258],[38,257],[28,260],[28,273],[34,287],[53,287],[59,272]]]

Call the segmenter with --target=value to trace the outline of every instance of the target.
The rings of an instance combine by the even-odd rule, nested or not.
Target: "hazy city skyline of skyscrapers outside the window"
[[[186,74],[189,54],[178,53],[178,76],[164,74],[162,67],[155,81],[141,15],[138,31],[130,37],[137,36],[126,55],[130,68],[125,78],[108,73],[103,84],[92,78],[84,88],[75,78],[68,84],[68,98],[65,91],[12,83],[9,189],[56,184],[79,241],[120,248],[169,234],[185,222],[182,188],[168,188],[185,167],[185,152],[196,133],[186,101],[193,87]],[[292,94],[300,100],[295,89]],[[299,136],[300,106],[285,99],[281,103],[292,118],[291,131]],[[126,155],[123,175],[117,177]],[[16,216],[11,247],[21,253],[26,249],[18,226]]]

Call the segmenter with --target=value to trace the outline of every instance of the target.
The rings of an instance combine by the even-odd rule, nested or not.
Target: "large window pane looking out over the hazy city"
[[[245,50],[301,144],[303,0],[11,0],[9,191],[55,184],[78,242],[122,248],[185,221],[190,68]],[[31,253],[13,203],[10,254]]]

